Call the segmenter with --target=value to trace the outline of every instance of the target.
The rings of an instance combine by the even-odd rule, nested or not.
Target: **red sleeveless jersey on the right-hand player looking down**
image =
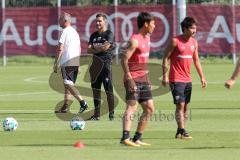
[[[183,36],[174,38],[177,46],[170,56],[169,82],[191,82],[191,64],[196,50],[196,40],[186,41]]]

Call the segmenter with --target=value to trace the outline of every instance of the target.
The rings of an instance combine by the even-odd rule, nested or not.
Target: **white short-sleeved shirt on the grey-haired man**
[[[77,31],[72,26],[64,28],[59,43],[63,44],[60,66],[79,66],[81,50]]]

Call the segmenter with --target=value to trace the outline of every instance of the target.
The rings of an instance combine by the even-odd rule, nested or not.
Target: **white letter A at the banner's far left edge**
[[[8,29],[11,31],[12,34],[7,34]],[[23,42],[18,34],[18,31],[12,19],[6,19],[2,26],[1,35],[2,38],[0,39],[0,45],[3,41],[15,41],[18,46],[23,45]]]

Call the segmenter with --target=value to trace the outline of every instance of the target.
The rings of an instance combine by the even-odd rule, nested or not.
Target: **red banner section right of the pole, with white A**
[[[240,49],[240,6],[188,5],[188,16],[198,21],[197,40],[202,54],[228,54]]]

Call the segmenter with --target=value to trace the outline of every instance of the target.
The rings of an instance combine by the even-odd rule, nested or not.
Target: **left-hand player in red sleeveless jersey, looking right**
[[[139,32],[132,35],[129,41],[129,48],[123,54],[121,61],[124,71],[123,80],[126,89],[127,103],[123,117],[123,135],[121,143],[134,147],[150,145],[141,141],[141,136],[154,111],[146,64],[150,52],[149,35],[155,28],[155,21],[151,14],[141,12],[137,17],[137,23]],[[141,104],[143,113],[138,122],[137,131],[131,140],[129,132],[131,129],[132,117],[137,111],[137,102]]]

